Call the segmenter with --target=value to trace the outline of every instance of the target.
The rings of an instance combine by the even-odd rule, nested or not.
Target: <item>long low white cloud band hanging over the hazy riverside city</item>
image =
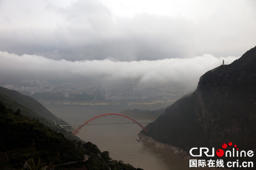
[[[215,57],[204,54],[187,59],[160,59],[140,61],[54,60],[37,55],[16,55],[0,52],[0,72],[17,73],[20,76],[33,73],[34,76],[46,77],[67,74],[102,80],[136,79],[139,85],[178,83],[184,89],[195,89],[199,78],[205,72],[222,64],[230,64],[238,57]]]

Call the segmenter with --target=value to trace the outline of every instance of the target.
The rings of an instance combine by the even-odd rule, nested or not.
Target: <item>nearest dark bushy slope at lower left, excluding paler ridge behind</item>
[[[34,147],[33,147],[34,143]],[[34,148],[34,149],[33,149]],[[29,170],[25,162],[34,157],[39,170],[54,161],[56,170],[141,170],[129,164],[109,162],[109,152],[101,152],[91,142],[67,139],[38,121],[27,118],[20,111],[7,109],[0,102],[0,170]],[[84,160],[87,154],[88,160]],[[30,163],[30,165],[32,165]]]

